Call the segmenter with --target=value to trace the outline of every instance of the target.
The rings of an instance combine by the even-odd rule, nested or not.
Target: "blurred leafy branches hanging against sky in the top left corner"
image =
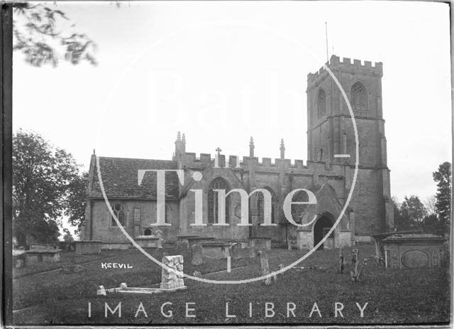
[[[74,31],[74,24],[56,7],[56,3],[14,3],[13,50],[21,51],[26,62],[37,67],[56,66],[61,58],[74,65],[82,61],[96,65],[95,43]]]

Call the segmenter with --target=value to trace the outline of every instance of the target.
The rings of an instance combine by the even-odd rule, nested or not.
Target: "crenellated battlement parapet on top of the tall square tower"
[[[364,72],[366,74],[375,74],[375,75],[380,75],[380,77],[383,75],[383,63],[382,62],[375,62],[372,63],[369,60],[357,60],[350,58],[341,58],[336,55],[332,55],[329,62],[325,64],[330,68],[330,70],[336,70],[336,69],[343,69],[343,70],[355,70],[356,72]],[[307,75],[307,80],[309,81],[314,81],[319,77],[322,77],[323,74],[328,74],[328,72],[325,69],[325,65],[321,67],[317,72],[315,73],[309,73]]]

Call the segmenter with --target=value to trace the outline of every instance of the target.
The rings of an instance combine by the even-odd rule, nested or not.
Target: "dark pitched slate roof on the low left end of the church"
[[[92,158],[94,161],[94,158]],[[156,199],[156,173],[147,172],[142,184],[138,185],[138,171],[145,169],[177,169],[175,161],[148,160],[140,158],[104,158],[99,157],[101,179],[108,198],[143,198]],[[96,162],[91,166],[92,188],[89,197],[102,197],[98,180]],[[179,180],[177,173],[165,175],[165,198],[177,200],[179,198]]]

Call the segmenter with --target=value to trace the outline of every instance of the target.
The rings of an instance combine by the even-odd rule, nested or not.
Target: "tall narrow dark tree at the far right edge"
[[[451,164],[444,162],[432,174],[437,183],[435,209],[440,220],[449,224],[451,215]]]

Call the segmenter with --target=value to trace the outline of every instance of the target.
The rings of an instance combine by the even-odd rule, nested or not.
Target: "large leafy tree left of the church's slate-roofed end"
[[[79,166],[70,153],[57,149],[34,132],[13,135],[13,235],[18,244],[27,237],[56,240],[60,218],[67,210],[72,189],[79,186]],[[83,207],[83,200],[79,203]]]

